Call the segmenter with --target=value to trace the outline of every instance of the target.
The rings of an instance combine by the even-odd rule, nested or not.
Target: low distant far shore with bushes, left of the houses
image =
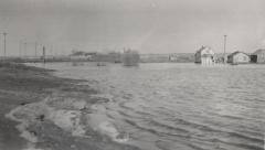
[[[220,54],[222,56],[222,54]],[[0,57],[0,61],[3,60]],[[43,62],[43,56],[29,57],[7,57],[9,62]],[[135,50],[125,50],[120,52],[97,53],[97,52],[74,52],[70,55],[46,55],[45,62],[109,62],[137,64],[139,63],[193,63],[193,53],[173,53],[173,54],[139,54]]]

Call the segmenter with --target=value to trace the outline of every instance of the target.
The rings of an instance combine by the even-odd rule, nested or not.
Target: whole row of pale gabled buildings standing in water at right
[[[218,56],[214,54],[213,50],[210,46],[202,46],[195,52],[195,63],[200,64],[214,64],[227,62],[231,64],[246,64],[246,63],[264,63],[265,64],[265,49],[259,49],[253,54],[246,54],[244,52],[236,51],[227,57]]]

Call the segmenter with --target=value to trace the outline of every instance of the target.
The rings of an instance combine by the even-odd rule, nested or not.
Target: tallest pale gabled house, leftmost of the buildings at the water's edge
[[[214,63],[214,52],[210,46],[202,46],[195,52],[195,63],[199,64],[213,64]]]

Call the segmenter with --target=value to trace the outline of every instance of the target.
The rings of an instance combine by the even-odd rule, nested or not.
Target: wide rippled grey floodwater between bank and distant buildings
[[[265,65],[46,64],[92,81],[107,116],[142,150],[263,150]],[[94,82],[93,82],[94,81]]]

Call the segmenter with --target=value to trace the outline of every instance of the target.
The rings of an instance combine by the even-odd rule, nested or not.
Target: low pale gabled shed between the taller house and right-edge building
[[[231,64],[247,64],[251,62],[251,57],[243,52],[236,51],[227,56],[227,63]]]

